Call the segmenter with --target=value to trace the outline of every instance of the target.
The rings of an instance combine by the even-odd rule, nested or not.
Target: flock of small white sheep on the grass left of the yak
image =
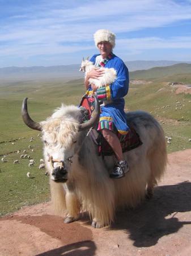
[[[37,137],[39,137],[39,136],[40,136],[40,134],[37,135]],[[33,142],[33,137],[31,137],[29,142]],[[15,144],[15,143],[12,142],[12,144]],[[28,148],[31,149],[31,152],[34,152],[34,150],[33,150],[31,145],[29,145]],[[18,150],[17,154],[20,154],[20,153],[21,153],[21,150]],[[28,167],[32,168],[34,166],[34,164],[35,164],[35,160],[31,159],[31,156],[27,155],[26,153],[27,153],[27,151],[23,150],[22,154],[20,155],[20,159],[28,159],[29,160]],[[1,162],[4,162],[4,163],[7,162],[6,156],[3,156],[3,158],[1,159]],[[19,160],[18,159],[14,160],[13,164],[19,164]],[[44,160],[40,159],[39,169],[44,169],[44,168],[45,168]],[[47,172],[45,172],[45,175],[47,175]],[[31,173],[30,172],[27,172],[27,177],[31,177]]]

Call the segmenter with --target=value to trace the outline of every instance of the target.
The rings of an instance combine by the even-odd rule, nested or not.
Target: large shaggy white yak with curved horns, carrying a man
[[[124,152],[130,167],[128,174],[111,179],[109,173],[116,159],[99,156],[89,136],[99,120],[96,97],[94,112],[87,122],[83,122],[83,112],[83,108],[62,105],[45,121],[35,122],[28,114],[27,98],[22,105],[24,123],[42,134],[54,210],[65,214],[65,223],[87,212],[92,226],[101,228],[114,221],[116,210],[136,207],[146,196],[152,196],[165,171],[167,149],[163,129],[152,115],[141,110],[126,113],[128,125],[137,131],[142,144]]]

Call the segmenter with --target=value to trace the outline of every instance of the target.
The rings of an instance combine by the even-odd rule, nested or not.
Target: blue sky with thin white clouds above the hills
[[[0,67],[79,64],[100,28],[124,61],[191,61],[191,0],[0,0]]]

